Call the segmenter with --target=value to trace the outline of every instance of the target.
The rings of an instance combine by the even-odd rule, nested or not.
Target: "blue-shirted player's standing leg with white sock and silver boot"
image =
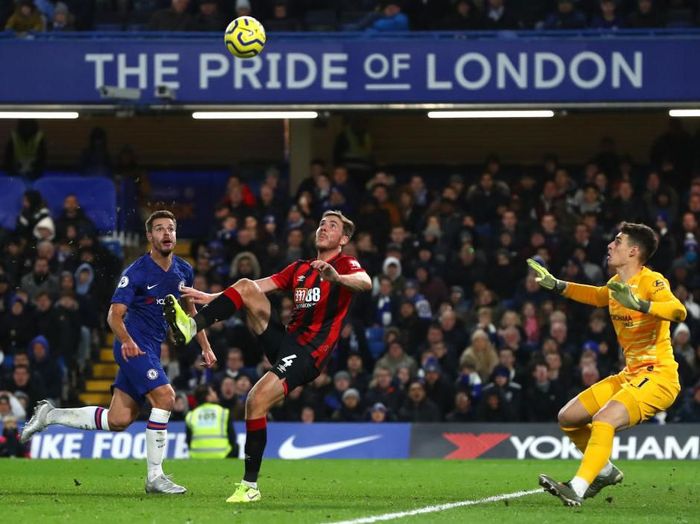
[[[175,391],[170,384],[164,384],[149,391],[146,398],[153,406],[146,425],[146,493],[186,493],[186,488],[175,484],[163,473],[163,455],[168,442],[168,420],[175,404]]]

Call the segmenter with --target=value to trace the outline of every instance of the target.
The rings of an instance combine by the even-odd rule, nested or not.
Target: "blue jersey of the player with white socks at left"
[[[165,296],[180,298],[180,287],[192,286],[193,280],[192,266],[176,256],[168,271],[163,271],[150,254],[136,259],[124,270],[112,303],[128,308],[124,324],[141,349],[153,348],[160,354],[160,343],[168,330],[163,316]]]

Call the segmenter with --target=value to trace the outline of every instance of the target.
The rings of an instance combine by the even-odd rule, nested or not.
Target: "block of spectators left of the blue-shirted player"
[[[0,228],[0,420],[78,402],[122,264],[74,195],[56,217],[36,190],[22,200],[14,230]]]

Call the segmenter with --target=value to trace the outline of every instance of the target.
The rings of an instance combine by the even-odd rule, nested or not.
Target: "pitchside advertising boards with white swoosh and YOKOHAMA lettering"
[[[52,426],[32,439],[33,458],[145,458],[145,423],[127,431]],[[243,450],[245,428],[236,424]],[[269,426],[266,458],[578,459],[555,424],[297,424]],[[168,425],[167,458],[187,458],[182,422]],[[643,425],[615,436],[613,459],[700,459],[700,425]]]

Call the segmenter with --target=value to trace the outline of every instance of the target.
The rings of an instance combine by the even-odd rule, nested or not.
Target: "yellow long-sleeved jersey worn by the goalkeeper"
[[[618,275],[609,282],[621,281]],[[626,375],[652,369],[678,381],[678,364],[673,358],[670,323],[685,319],[685,306],[678,300],[661,273],[647,267],[627,282],[640,299],[648,300],[648,313],[627,309],[610,296],[607,286],[568,282],[564,296],[593,306],[608,306],[617,339],[625,355]]]

